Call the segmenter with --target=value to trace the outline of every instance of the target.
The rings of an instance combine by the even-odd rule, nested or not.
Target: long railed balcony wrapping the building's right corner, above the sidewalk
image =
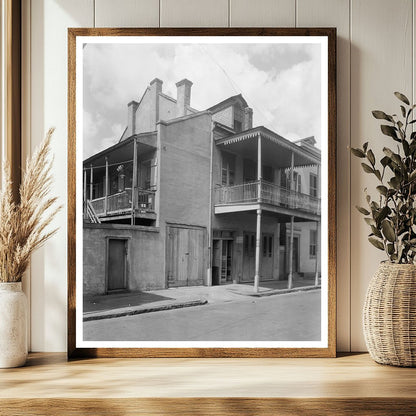
[[[214,198],[216,207],[264,204],[269,207],[282,208],[285,211],[296,210],[297,212],[316,216],[321,214],[320,198],[291,191],[264,180],[234,186],[222,186],[215,189]],[[221,212],[225,211],[216,209],[216,213]]]

